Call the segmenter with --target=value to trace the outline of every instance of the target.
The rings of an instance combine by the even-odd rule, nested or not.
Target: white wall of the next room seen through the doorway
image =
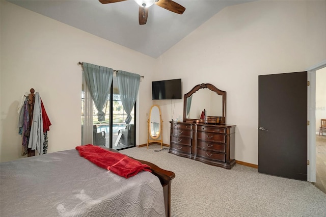
[[[326,119],[326,67],[316,71],[315,110],[316,110],[316,134],[319,135],[320,119]]]

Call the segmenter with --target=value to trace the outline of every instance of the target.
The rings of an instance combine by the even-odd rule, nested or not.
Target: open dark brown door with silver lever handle
[[[258,172],[307,181],[307,72],[258,81]]]

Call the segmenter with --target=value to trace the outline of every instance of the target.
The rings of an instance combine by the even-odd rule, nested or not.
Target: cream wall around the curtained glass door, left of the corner
[[[21,157],[17,106],[31,88],[40,93],[52,123],[48,152],[80,145],[82,68],[78,61],[144,75],[139,104],[149,110],[155,59],[14,4],[0,1],[0,5],[1,161]],[[137,111],[137,129],[146,129],[137,144],[144,144],[146,111]]]

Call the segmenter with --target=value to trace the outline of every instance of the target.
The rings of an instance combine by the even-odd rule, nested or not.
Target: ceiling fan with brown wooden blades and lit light
[[[99,0],[102,4],[123,2],[127,0]],[[172,0],[134,0],[139,5],[139,24],[143,25],[147,22],[148,8],[153,4],[161,8],[167,9],[177,14],[182,14],[185,8]]]

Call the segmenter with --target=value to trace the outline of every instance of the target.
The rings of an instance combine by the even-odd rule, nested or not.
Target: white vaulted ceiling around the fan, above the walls
[[[185,7],[182,15],[153,5],[149,8],[147,23],[140,25],[139,6],[133,0],[105,5],[98,0],[8,0],[153,58],[159,57],[223,8],[250,1],[175,0]]]

